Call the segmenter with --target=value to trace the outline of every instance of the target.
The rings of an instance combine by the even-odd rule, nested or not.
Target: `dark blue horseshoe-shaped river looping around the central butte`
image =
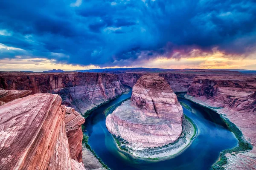
[[[192,109],[189,111],[183,107],[183,112],[198,127],[198,135],[192,144],[180,155],[164,161],[130,159],[117,150],[113,136],[105,126],[103,113],[106,108],[129,97],[131,91],[102,105],[86,118],[84,124],[90,147],[111,170],[210,170],[222,150],[238,145],[238,140],[218,113],[178,98]]]

